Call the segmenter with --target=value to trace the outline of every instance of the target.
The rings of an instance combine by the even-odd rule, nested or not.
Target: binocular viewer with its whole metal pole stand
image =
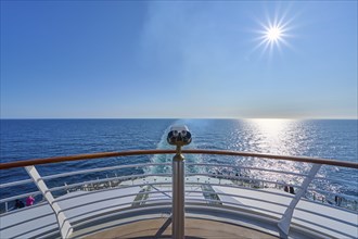
[[[184,238],[186,218],[186,181],[184,181],[184,158],[181,155],[181,147],[191,142],[191,134],[187,126],[172,126],[168,133],[167,141],[177,147],[176,155],[172,158],[172,209],[171,209],[171,237]]]

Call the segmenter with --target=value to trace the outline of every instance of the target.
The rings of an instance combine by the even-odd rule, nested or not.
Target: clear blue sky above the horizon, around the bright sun
[[[1,117],[357,118],[356,10],[1,1]]]

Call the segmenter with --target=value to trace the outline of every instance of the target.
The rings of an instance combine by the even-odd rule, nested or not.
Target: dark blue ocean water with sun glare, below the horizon
[[[188,149],[215,149],[250,151],[282,155],[303,155],[357,162],[358,121],[356,120],[1,120],[1,163],[51,158],[80,153],[124,151],[135,149],[174,149],[166,142],[171,125],[184,124],[192,133],[193,141]],[[41,175],[64,173],[85,168],[170,162],[172,155],[141,155],[77,161],[38,166]],[[231,165],[260,166],[291,172],[307,172],[308,164],[286,161],[218,155],[186,155],[187,162],[221,163]],[[131,168],[116,172],[117,175],[170,172],[169,167]],[[203,168],[190,167],[189,172]],[[235,173],[230,168],[210,168],[212,173]],[[245,172],[252,177],[277,181],[299,180],[282,178],[255,171]],[[341,167],[322,167],[320,176],[337,178],[351,184],[316,183],[316,187],[336,193],[358,196],[357,171]],[[104,175],[80,176],[104,177]],[[106,175],[107,176],[107,175]],[[110,175],[111,176],[111,175]],[[289,176],[286,176],[289,177]],[[25,169],[0,171],[0,183],[29,178]],[[56,183],[49,181],[50,187]],[[63,185],[63,183],[62,183]],[[2,189],[0,198],[23,193],[34,186]],[[18,194],[16,192],[15,194]]]

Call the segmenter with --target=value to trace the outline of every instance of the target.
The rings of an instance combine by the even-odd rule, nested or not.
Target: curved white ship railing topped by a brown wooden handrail
[[[54,174],[40,176],[35,165],[52,164],[68,161],[104,159],[114,156],[129,155],[148,155],[148,154],[175,154],[175,150],[138,150],[124,152],[104,152],[94,154],[79,154],[71,156],[59,156],[49,159],[37,159],[21,162],[11,162],[0,164],[0,169],[10,169],[15,167],[25,167],[30,179],[12,181],[0,185],[0,190],[4,188],[21,188],[24,185],[34,184],[38,190],[29,191],[22,194],[1,199],[0,204],[4,204],[5,212],[1,214],[4,225],[1,230],[11,230],[27,223],[28,218],[20,218],[16,224],[7,224],[7,216],[15,215],[16,213],[25,213],[31,209],[42,209],[44,205],[50,205],[40,215],[34,215],[31,218],[53,217],[55,212],[55,222],[61,225],[59,230],[57,224],[49,223],[42,225],[48,229],[29,231],[17,231],[15,237],[22,237],[26,232],[27,236],[42,235],[50,237],[59,235],[68,237],[73,230],[82,228],[91,222],[106,218],[117,218],[116,215],[123,215],[129,212],[149,213],[150,209],[161,209],[162,213],[169,216],[171,206],[171,173],[152,173],[143,171],[148,167],[166,166],[171,168],[171,163],[139,163],[130,165],[118,165],[98,167],[92,169],[75,171],[69,173]],[[347,196],[343,193],[328,191],[312,187],[311,181],[325,180],[332,184],[356,184],[344,179],[332,179],[322,176],[317,176],[321,165],[332,165],[353,168],[355,172],[358,168],[358,163],[342,162],[327,159],[302,158],[302,156],[284,156],[270,155],[263,153],[235,152],[235,151],[218,151],[218,150],[182,150],[186,154],[215,154],[215,155],[231,155],[245,158],[260,158],[269,160],[284,160],[311,164],[308,173],[293,173],[280,169],[270,169],[244,165],[232,164],[212,164],[212,163],[187,163],[187,167],[203,168],[196,173],[186,173],[186,209],[187,211],[195,211],[205,209],[203,213],[209,214],[208,210],[226,213],[250,214],[259,221],[270,222],[279,225],[279,228],[289,234],[289,228],[299,228],[301,231],[315,231],[322,237],[351,237],[345,230],[333,228],[320,224],[318,217],[331,219],[338,225],[345,227],[357,227],[357,223],[345,218],[334,216],[335,210],[341,213],[357,213],[358,198],[357,196]],[[126,168],[141,168],[141,173],[132,175],[118,175],[116,172]],[[227,173],[222,173],[220,168],[226,168]],[[231,168],[231,169],[228,169]],[[246,172],[257,171],[260,174],[269,173],[281,175],[290,175],[298,178],[294,183],[274,180],[271,178],[253,178]],[[228,173],[229,172],[229,173]],[[91,174],[101,173],[102,178],[93,178]],[[77,177],[75,181],[74,177]],[[69,178],[69,179],[68,179]],[[86,179],[90,178],[90,179]],[[71,181],[71,183],[68,183]],[[54,184],[55,183],[55,184]],[[62,185],[59,185],[62,184]],[[52,187],[50,187],[53,185]],[[357,185],[358,187],[358,185]],[[284,191],[285,188],[292,188],[295,194]],[[123,193],[118,192],[118,189]],[[84,193],[84,191],[86,193]],[[69,192],[69,193],[68,193]],[[99,197],[98,193],[101,193]],[[24,209],[11,210],[12,202],[16,199],[25,199],[28,196],[37,197],[37,203],[33,206]],[[92,200],[93,199],[93,200]],[[95,199],[95,200],[94,200]],[[120,203],[119,203],[120,199]],[[336,200],[338,199],[338,200]],[[81,203],[78,203],[78,200]],[[77,203],[76,203],[77,201]],[[68,204],[68,202],[72,202]],[[67,203],[67,204],[66,204]],[[102,204],[101,204],[102,203]],[[307,203],[312,205],[324,206],[325,213],[322,211],[311,211]],[[100,205],[101,204],[101,205]],[[311,205],[309,204],[309,205]],[[43,207],[44,209],[44,207]],[[50,210],[49,210],[50,209]],[[213,212],[213,215],[215,213]],[[349,214],[349,215],[350,215]],[[308,218],[316,218],[310,221]]]

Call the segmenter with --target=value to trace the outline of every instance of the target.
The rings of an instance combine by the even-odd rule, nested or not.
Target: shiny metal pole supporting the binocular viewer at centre
[[[184,158],[181,155],[181,147],[177,147],[177,154],[172,158],[172,212],[171,212],[171,238],[184,238],[186,197],[184,197]]]

